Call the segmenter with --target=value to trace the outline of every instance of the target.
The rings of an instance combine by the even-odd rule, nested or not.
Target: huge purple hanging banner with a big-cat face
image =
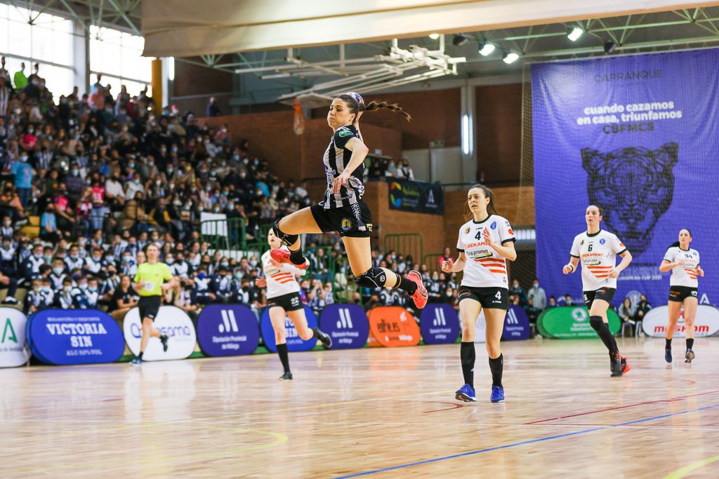
[[[532,67],[537,274],[547,295],[582,298],[580,274],[564,276],[585,209],[633,256],[618,278],[624,297],[667,302],[659,264],[689,228],[703,265],[713,248],[719,184],[719,50],[554,62]],[[719,301],[719,275],[699,280],[702,303]]]

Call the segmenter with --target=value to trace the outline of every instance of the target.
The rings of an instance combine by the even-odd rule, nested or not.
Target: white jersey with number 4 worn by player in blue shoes
[[[489,215],[480,223],[475,220],[464,223],[457,240],[457,251],[467,256],[462,286],[508,288],[507,261],[487,245],[483,236],[485,229],[495,243],[504,245],[515,241],[512,226],[501,216]]]

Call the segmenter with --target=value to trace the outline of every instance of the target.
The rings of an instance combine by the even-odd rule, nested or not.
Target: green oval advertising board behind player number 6
[[[607,311],[609,330],[619,332],[621,321],[613,309]],[[544,310],[537,318],[537,330],[544,338],[596,338],[597,332],[589,324],[589,312],[584,306],[562,306]]]

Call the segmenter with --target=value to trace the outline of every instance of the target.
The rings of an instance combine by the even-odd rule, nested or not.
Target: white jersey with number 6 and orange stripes
[[[596,291],[600,288],[616,288],[617,279],[609,277],[609,271],[617,264],[617,255],[627,248],[614,233],[600,230],[590,234],[586,231],[574,236],[574,258],[582,264],[582,290]]]

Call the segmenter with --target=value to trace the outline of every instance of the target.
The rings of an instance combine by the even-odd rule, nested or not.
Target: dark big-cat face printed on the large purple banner
[[[604,220],[634,256],[651,243],[657,220],[674,197],[674,165],[679,145],[659,149],[628,147],[602,153],[582,149],[589,201],[604,210]]]

